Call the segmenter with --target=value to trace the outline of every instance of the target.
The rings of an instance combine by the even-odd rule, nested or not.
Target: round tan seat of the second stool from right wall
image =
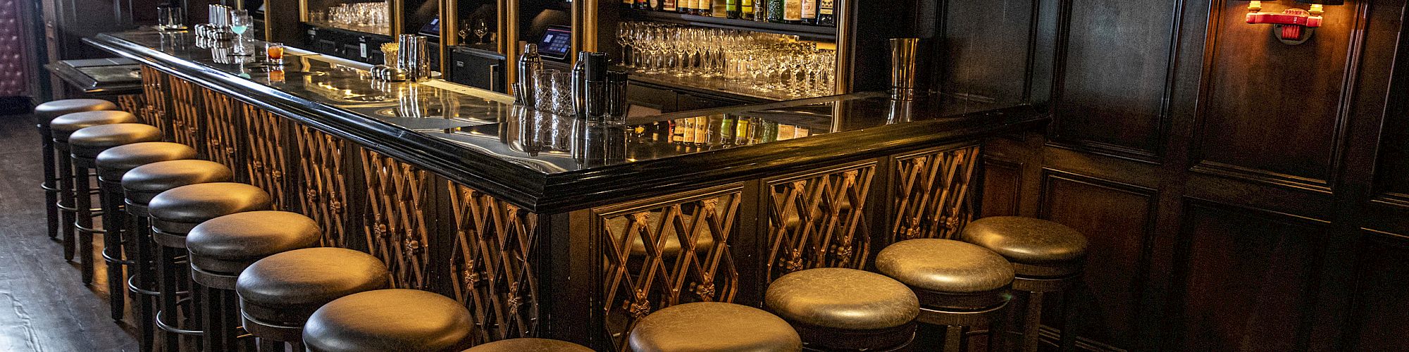
[[[876,270],[941,293],[978,293],[1013,282],[1013,265],[993,251],[952,239],[906,239],[876,255]]]

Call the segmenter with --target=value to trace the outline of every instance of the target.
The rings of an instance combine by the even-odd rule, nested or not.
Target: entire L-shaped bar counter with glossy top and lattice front
[[[865,269],[962,227],[982,141],[1047,122],[857,93],[609,127],[292,48],[273,69],[189,32],[86,41],[142,63],[124,108],[317,220],[324,245],[383,259],[395,286],[465,303],[478,342],[620,349],[672,304],[759,306],[783,273]]]

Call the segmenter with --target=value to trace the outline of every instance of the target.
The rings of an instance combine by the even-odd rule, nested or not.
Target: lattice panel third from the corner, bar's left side
[[[348,183],[342,166],[347,142],[311,127],[296,130],[303,187],[297,194],[303,214],[323,228],[323,246],[347,248]]]

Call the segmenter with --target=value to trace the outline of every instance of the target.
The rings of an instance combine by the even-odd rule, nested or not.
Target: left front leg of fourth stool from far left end
[[[123,231],[125,228],[127,211],[121,207],[123,200],[113,191],[111,182],[99,183],[99,200],[103,207],[103,262],[107,263],[107,301],[113,320],[123,320],[125,314],[127,290],[124,289],[124,266],[130,265],[123,259]]]

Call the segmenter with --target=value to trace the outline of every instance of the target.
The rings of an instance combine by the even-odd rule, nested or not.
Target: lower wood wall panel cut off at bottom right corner
[[[1409,310],[1403,296],[1409,291],[1409,237],[1365,231],[1360,246],[1355,280],[1357,294],[1347,351],[1399,351],[1409,345]]]

